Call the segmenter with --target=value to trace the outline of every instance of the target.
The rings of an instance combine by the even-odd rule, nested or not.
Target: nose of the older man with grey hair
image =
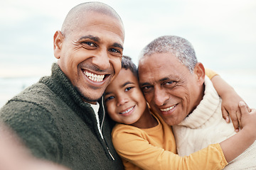
[[[153,101],[156,106],[163,106],[166,101],[168,101],[169,95],[162,87],[155,87],[154,88],[154,98]]]

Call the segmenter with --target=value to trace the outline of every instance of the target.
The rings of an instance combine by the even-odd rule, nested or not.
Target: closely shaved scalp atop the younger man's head
[[[75,28],[78,26],[78,23],[80,23],[81,19],[85,20],[87,17],[93,17],[90,15],[86,16],[86,13],[90,12],[102,13],[102,15],[111,16],[112,18],[115,18],[117,19],[117,21],[122,23],[122,19],[120,18],[118,13],[107,4],[96,1],[86,2],[73,7],[69,11],[61,28],[61,32],[63,33],[63,35],[68,35],[70,34],[70,32],[73,32],[73,30],[75,30]]]

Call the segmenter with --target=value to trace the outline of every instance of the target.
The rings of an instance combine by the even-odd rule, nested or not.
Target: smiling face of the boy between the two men
[[[129,69],[121,69],[107,86],[104,100],[110,118],[118,123],[136,125],[146,111],[146,100],[139,89],[138,79]]]

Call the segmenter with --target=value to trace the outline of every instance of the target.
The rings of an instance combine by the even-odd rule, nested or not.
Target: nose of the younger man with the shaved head
[[[102,70],[109,69],[110,57],[108,56],[108,51],[106,49],[99,50],[97,55],[93,57],[92,63]]]

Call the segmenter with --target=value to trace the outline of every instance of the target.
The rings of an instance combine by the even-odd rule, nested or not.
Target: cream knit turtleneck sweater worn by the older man
[[[226,123],[222,117],[221,98],[208,77],[205,86],[201,103],[186,119],[173,127],[180,156],[189,155],[235,135],[233,124]],[[256,142],[225,166],[225,169],[256,169]]]

